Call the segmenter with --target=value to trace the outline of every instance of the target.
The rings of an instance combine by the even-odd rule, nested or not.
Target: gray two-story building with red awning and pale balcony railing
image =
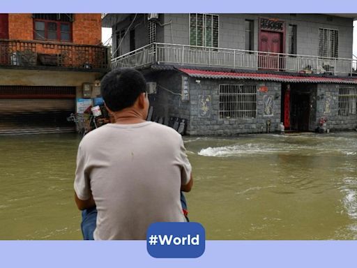
[[[112,68],[149,81],[153,119],[189,135],[357,126],[357,15],[107,14]],[[178,118],[178,119],[175,119]]]

